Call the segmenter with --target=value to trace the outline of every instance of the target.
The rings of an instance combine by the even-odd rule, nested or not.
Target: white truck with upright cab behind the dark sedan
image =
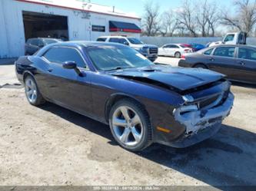
[[[231,32],[224,36],[222,41],[215,41],[208,44],[208,47],[218,44],[246,44],[246,32]]]

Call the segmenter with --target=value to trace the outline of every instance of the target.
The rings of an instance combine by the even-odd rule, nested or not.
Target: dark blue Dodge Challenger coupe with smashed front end
[[[109,124],[131,151],[201,142],[220,129],[234,101],[224,75],[156,65],[122,44],[49,44],[15,68],[30,104],[50,101]]]

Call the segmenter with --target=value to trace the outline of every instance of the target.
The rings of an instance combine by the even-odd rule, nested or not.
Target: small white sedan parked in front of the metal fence
[[[185,47],[182,44],[165,44],[158,48],[159,56],[171,56],[181,58],[182,54],[193,52],[192,48]]]

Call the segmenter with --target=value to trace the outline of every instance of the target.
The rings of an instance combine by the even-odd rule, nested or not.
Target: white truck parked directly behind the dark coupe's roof
[[[99,37],[97,41],[115,42],[128,45],[144,55],[145,58],[148,58],[150,61],[155,61],[158,58],[158,47],[153,44],[144,44],[138,38],[125,36],[105,36]]]

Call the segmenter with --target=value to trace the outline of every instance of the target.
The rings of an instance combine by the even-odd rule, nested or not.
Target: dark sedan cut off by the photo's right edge
[[[256,48],[246,45],[219,45],[184,55],[181,67],[208,68],[227,75],[231,81],[256,84]]]

